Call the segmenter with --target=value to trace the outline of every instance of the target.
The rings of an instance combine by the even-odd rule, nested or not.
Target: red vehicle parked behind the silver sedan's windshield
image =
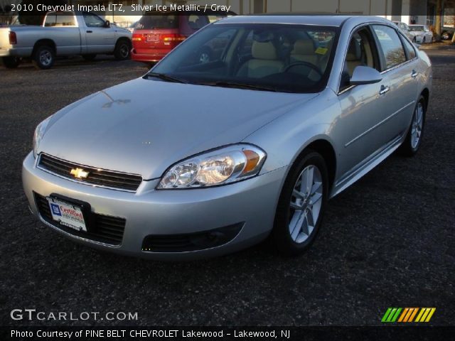
[[[150,11],[137,23],[133,31],[132,60],[158,62],[179,43],[205,25],[235,13],[191,12],[181,15],[177,12]],[[200,61],[210,61],[210,55],[201,51]]]

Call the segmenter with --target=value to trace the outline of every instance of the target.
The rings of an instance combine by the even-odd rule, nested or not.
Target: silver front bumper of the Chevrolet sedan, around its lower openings
[[[137,193],[75,183],[36,168],[29,153],[23,161],[23,188],[34,215],[66,237],[82,244],[120,254],[151,259],[196,259],[227,254],[261,241],[271,231],[274,212],[287,168],[215,188],[155,190],[159,180],[144,182]],[[58,193],[88,202],[92,213],[123,217],[122,242],[112,246],[75,236],[45,222],[35,196]],[[240,232],[226,244],[196,251],[144,251],[149,235],[195,234],[242,223]]]

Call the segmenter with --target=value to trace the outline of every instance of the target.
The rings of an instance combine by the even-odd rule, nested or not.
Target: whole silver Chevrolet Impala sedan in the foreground
[[[23,186],[92,247],[189,259],[269,237],[299,254],[329,198],[417,152],[431,90],[429,58],[385,19],[226,18],[41,122]]]

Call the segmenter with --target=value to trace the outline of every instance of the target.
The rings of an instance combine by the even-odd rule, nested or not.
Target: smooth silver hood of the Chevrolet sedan
[[[316,95],[139,78],[53,115],[38,153],[144,179],[159,178],[173,163],[238,143]]]

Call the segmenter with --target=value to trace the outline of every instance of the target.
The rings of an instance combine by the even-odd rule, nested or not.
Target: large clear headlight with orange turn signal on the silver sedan
[[[202,153],[169,168],[157,188],[200,188],[251,178],[261,170],[265,156],[262,149],[249,144]]]

